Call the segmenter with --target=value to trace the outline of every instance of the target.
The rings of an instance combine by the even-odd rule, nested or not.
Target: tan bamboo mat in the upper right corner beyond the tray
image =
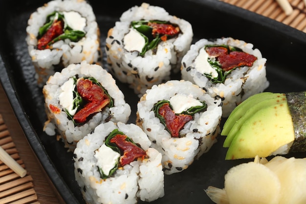
[[[306,32],[306,6],[303,0],[288,0],[293,12],[286,15],[276,0],[221,0],[274,19]]]

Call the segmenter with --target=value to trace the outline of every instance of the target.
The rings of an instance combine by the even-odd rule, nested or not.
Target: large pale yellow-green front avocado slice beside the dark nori
[[[287,102],[271,105],[247,119],[234,137],[225,159],[268,157],[294,141]]]

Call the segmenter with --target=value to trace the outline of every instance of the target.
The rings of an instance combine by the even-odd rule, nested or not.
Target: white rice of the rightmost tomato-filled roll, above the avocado
[[[224,83],[214,84],[195,66],[195,59],[199,50],[205,45],[231,45],[239,47],[242,51],[257,57],[252,67],[241,67],[233,70]],[[201,88],[207,90],[212,97],[222,98],[222,117],[227,117],[234,108],[251,95],[264,91],[269,82],[266,78],[266,59],[262,58],[259,49],[242,40],[233,38],[221,38],[215,41],[201,39],[191,45],[190,50],[182,59],[181,74],[182,79],[193,82]]]

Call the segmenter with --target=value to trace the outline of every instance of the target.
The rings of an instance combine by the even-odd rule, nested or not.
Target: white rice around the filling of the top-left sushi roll
[[[46,23],[47,15],[54,11],[78,12],[82,18],[86,19],[84,27],[86,36],[78,42],[71,42],[69,39],[60,40],[48,49],[39,50],[37,49],[39,28]],[[86,0],[52,0],[45,3],[31,14],[26,32],[28,52],[40,87],[44,86],[48,77],[55,71],[60,71],[69,64],[80,63],[84,60],[89,64],[100,64],[100,30],[92,7]]]

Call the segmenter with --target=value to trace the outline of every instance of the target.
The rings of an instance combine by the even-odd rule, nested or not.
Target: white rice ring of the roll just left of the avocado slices
[[[190,96],[207,103],[207,110],[196,113],[179,132],[181,137],[171,137],[165,126],[155,116],[152,108],[160,100],[169,100],[176,94]],[[214,99],[197,85],[184,80],[171,80],[154,85],[147,90],[137,104],[137,121],[149,136],[152,147],[162,154],[165,174],[187,169],[217,142],[219,122],[222,114],[221,99]]]

